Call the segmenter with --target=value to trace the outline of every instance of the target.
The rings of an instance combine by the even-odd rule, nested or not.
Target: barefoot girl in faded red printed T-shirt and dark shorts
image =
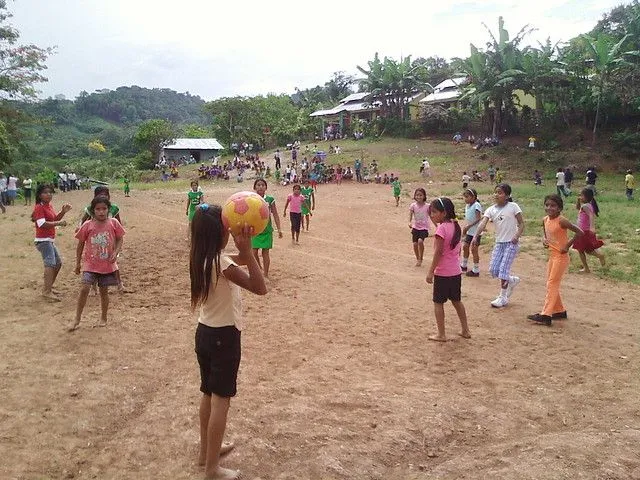
[[[76,318],[69,325],[70,332],[80,325],[82,311],[87,304],[91,285],[97,283],[100,290],[100,321],[98,327],[107,325],[109,309],[109,287],[118,284],[116,260],[122,249],[124,228],[115,218],[109,218],[111,202],[107,197],[94,197],[89,206],[91,220],[82,224],[76,233],[76,275],[80,275],[82,264],[82,288],[78,296]],[[85,245],[87,248],[85,249]]]

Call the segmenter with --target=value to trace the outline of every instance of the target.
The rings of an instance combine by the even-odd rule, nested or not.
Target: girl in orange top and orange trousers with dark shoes
[[[547,263],[547,293],[544,299],[542,312],[528,315],[529,320],[551,325],[552,319],[567,318],[567,310],[560,298],[560,282],[569,268],[569,249],[576,238],[582,235],[582,230],[562,215],[564,203],[560,195],[547,195],[544,197],[544,211],[547,214],[542,219],[542,232],[544,237],[542,244],[549,249],[549,261]],[[567,230],[575,233],[569,240]]]

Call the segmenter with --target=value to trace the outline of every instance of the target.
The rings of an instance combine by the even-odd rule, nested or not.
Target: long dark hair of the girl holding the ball
[[[220,251],[223,248],[224,233],[222,207],[206,203],[198,205],[191,221],[189,254],[191,308],[194,310],[207,301],[214,268],[216,283],[220,276]]]

